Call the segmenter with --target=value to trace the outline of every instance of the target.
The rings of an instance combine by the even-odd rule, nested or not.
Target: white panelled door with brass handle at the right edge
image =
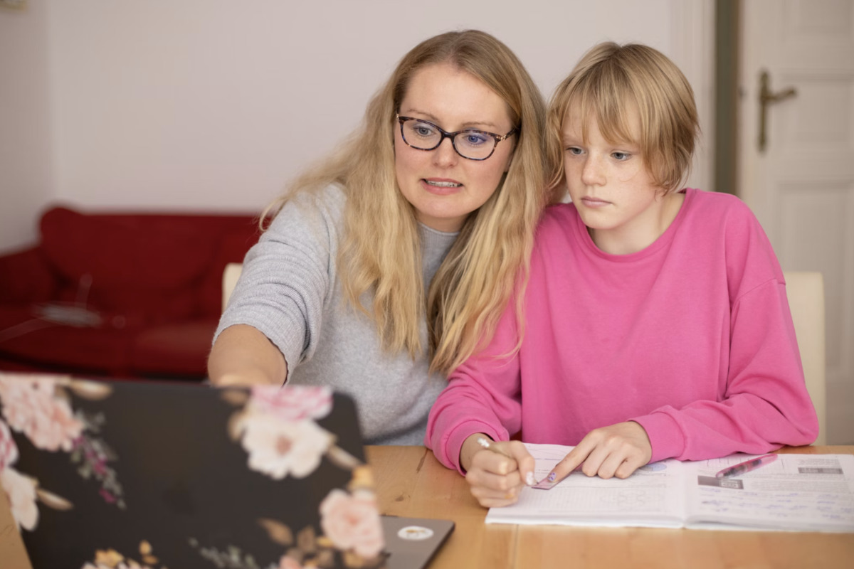
[[[745,0],[740,196],[783,270],[820,270],[828,444],[854,444],[854,0]],[[760,74],[769,91],[758,148]]]

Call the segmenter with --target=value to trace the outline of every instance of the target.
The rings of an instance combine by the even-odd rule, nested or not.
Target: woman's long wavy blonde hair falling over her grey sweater
[[[494,90],[518,135],[502,183],[466,219],[425,292],[418,222],[395,177],[393,129],[412,76],[439,63],[471,73]],[[345,298],[374,319],[383,348],[414,358],[429,347],[430,369],[447,373],[491,339],[514,293],[522,330],[528,258],[547,202],[544,131],[542,96],[505,44],[477,30],[443,33],[403,57],[371,99],[360,128],[267,212],[278,212],[296,192],[339,183],[347,195],[336,259]],[[371,294],[371,306],[362,304],[364,293]],[[418,332],[425,308],[429,346]]]

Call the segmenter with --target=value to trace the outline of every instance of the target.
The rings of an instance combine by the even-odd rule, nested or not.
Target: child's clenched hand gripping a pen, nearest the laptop
[[[519,441],[491,443],[490,449],[477,444],[476,434],[465,439],[460,463],[471,495],[484,508],[508,506],[519,498],[522,487],[534,484],[534,457]]]

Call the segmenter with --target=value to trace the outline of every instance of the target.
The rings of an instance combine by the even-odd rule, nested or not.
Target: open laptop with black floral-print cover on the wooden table
[[[420,569],[450,520],[380,516],[354,401],[0,373],[0,485],[33,569]]]

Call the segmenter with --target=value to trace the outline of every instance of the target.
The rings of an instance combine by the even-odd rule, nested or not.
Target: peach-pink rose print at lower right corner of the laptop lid
[[[320,502],[320,527],[337,549],[353,549],[366,558],[383,550],[383,526],[371,491],[330,491]]]

